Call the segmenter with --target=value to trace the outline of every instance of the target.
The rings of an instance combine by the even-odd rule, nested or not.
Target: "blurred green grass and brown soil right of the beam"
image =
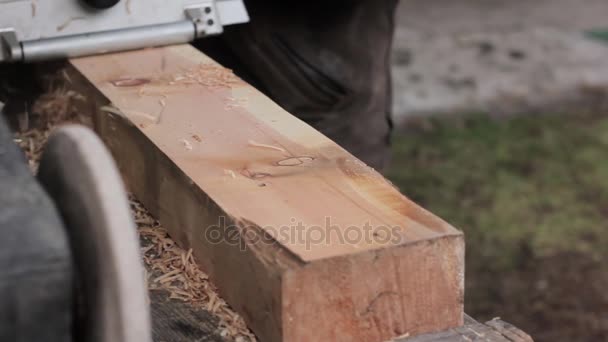
[[[469,314],[608,340],[608,117],[429,120],[394,151],[389,177],[466,234]]]

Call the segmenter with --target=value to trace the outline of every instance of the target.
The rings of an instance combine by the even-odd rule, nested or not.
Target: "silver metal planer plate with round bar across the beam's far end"
[[[181,44],[248,21],[242,0],[0,0],[0,62]]]

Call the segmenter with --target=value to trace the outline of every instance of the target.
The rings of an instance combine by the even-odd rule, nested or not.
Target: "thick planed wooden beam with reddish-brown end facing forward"
[[[462,234],[230,71],[190,46],[71,63],[131,191],[260,340],[462,324]]]

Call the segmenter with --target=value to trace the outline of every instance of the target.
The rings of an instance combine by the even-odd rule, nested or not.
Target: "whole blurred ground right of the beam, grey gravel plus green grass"
[[[466,311],[608,341],[608,1],[397,15],[389,178],[465,232]]]

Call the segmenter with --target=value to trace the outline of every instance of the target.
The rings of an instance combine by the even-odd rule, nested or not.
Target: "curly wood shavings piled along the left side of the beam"
[[[81,100],[83,98],[79,94],[58,89],[43,95],[31,107],[34,114],[24,113],[25,119],[20,118],[22,132],[15,134],[14,141],[25,152],[33,172],[38,169],[44,144],[55,127],[66,123],[86,123],[87,118],[79,117],[74,106],[74,101]],[[148,288],[166,290],[173,300],[207,310],[217,317],[218,333],[227,340],[256,341],[243,318],[227,305],[208,276],[198,268],[192,250],[185,251],[177,246],[133,195],[129,195],[129,201],[140,234]]]

